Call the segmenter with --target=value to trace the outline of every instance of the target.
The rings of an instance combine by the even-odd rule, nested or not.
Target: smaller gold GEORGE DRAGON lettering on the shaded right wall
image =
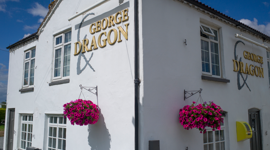
[[[255,54],[247,52],[247,51],[244,51],[244,58],[263,64],[263,60],[262,60],[261,56],[255,55]],[[243,62],[241,62],[241,61],[238,62],[237,60],[234,60],[234,59],[232,59],[232,61],[233,61],[233,71],[238,72],[240,70],[240,73],[251,74],[252,76],[255,75],[255,76],[263,77],[263,68],[262,67],[258,67],[258,66],[254,67],[253,64],[250,64],[248,66],[247,63],[244,64]],[[237,64],[237,66],[236,66],[236,64]],[[253,67],[254,67],[254,69],[253,69]]]

